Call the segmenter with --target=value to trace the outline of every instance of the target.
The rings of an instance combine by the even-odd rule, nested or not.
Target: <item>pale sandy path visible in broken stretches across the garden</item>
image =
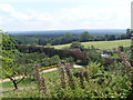
[[[73,68],[82,68],[82,66],[74,64]],[[52,68],[52,69],[43,70],[43,71],[41,71],[40,73],[51,72],[51,71],[54,71],[54,70],[57,70],[57,69],[58,69],[58,68]],[[16,78],[16,79],[21,79],[22,76],[14,77],[14,78]],[[6,82],[6,81],[10,81],[10,79],[0,80],[0,83],[1,83],[1,82]]]

